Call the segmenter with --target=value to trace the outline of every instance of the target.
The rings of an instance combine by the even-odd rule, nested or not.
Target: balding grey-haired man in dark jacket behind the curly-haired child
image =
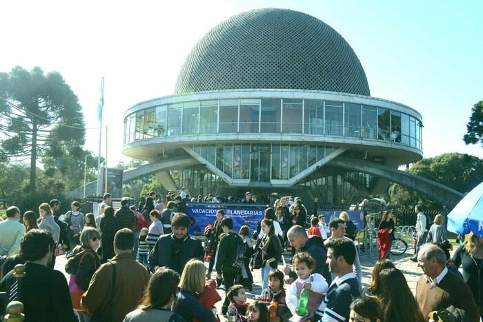
[[[308,252],[315,259],[314,273],[319,273],[326,279],[327,283],[331,283],[331,273],[326,265],[327,251],[322,238],[314,236],[308,238],[305,229],[302,226],[295,225],[287,232],[287,239],[290,245],[299,252]],[[284,268],[285,274],[291,279],[297,279],[297,275],[290,268]]]

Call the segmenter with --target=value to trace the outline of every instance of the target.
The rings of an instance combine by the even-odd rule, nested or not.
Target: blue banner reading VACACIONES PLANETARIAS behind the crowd
[[[187,203],[188,217],[192,222],[189,234],[202,236],[207,225],[213,223],[217,211],[223,209],[225,216],[233,219],[233,230],[239,232],[242,225],[248,225],[250,235],[257,227],[257,222],[264,218],[266,205],[242,205],[237,203]]]

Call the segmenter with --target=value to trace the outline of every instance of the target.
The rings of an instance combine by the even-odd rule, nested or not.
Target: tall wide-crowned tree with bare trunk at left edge
[[[0,145],[3,159],[30,159],[29,190],[37,179],[37,159],[66,148],[81,157],[84,120],[77,96],[61,74],[15,67],[0,73]]]

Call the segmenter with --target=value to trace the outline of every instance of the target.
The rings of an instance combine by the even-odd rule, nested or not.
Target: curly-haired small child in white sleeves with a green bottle
[[[298,279],[296,279],[287,288],[286,303],[290,312],[292,312],[295,321],[317,321],[314,319],[317,308],[324,301],[324,293],[326,292],[328,285],[324,276],[321,274],[312,274],[315,268],[315,260],[313,257],[306,253],[301,252],[293,256],[293,265],[297,272]],[[302,289],[308,290],[308,304],[307,314],[305,316],[299,316],[299,298]]]

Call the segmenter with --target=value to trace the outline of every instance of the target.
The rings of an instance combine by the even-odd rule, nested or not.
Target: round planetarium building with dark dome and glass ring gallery
[[[175,94],[129,108],[124,154],[161,164],[152,173],[167,190],[350,203],[388,183],[357,164],[422,159],[421,128],[417,110],[371,97],[333,28],[270,8],[219,23],[188,54]]]

